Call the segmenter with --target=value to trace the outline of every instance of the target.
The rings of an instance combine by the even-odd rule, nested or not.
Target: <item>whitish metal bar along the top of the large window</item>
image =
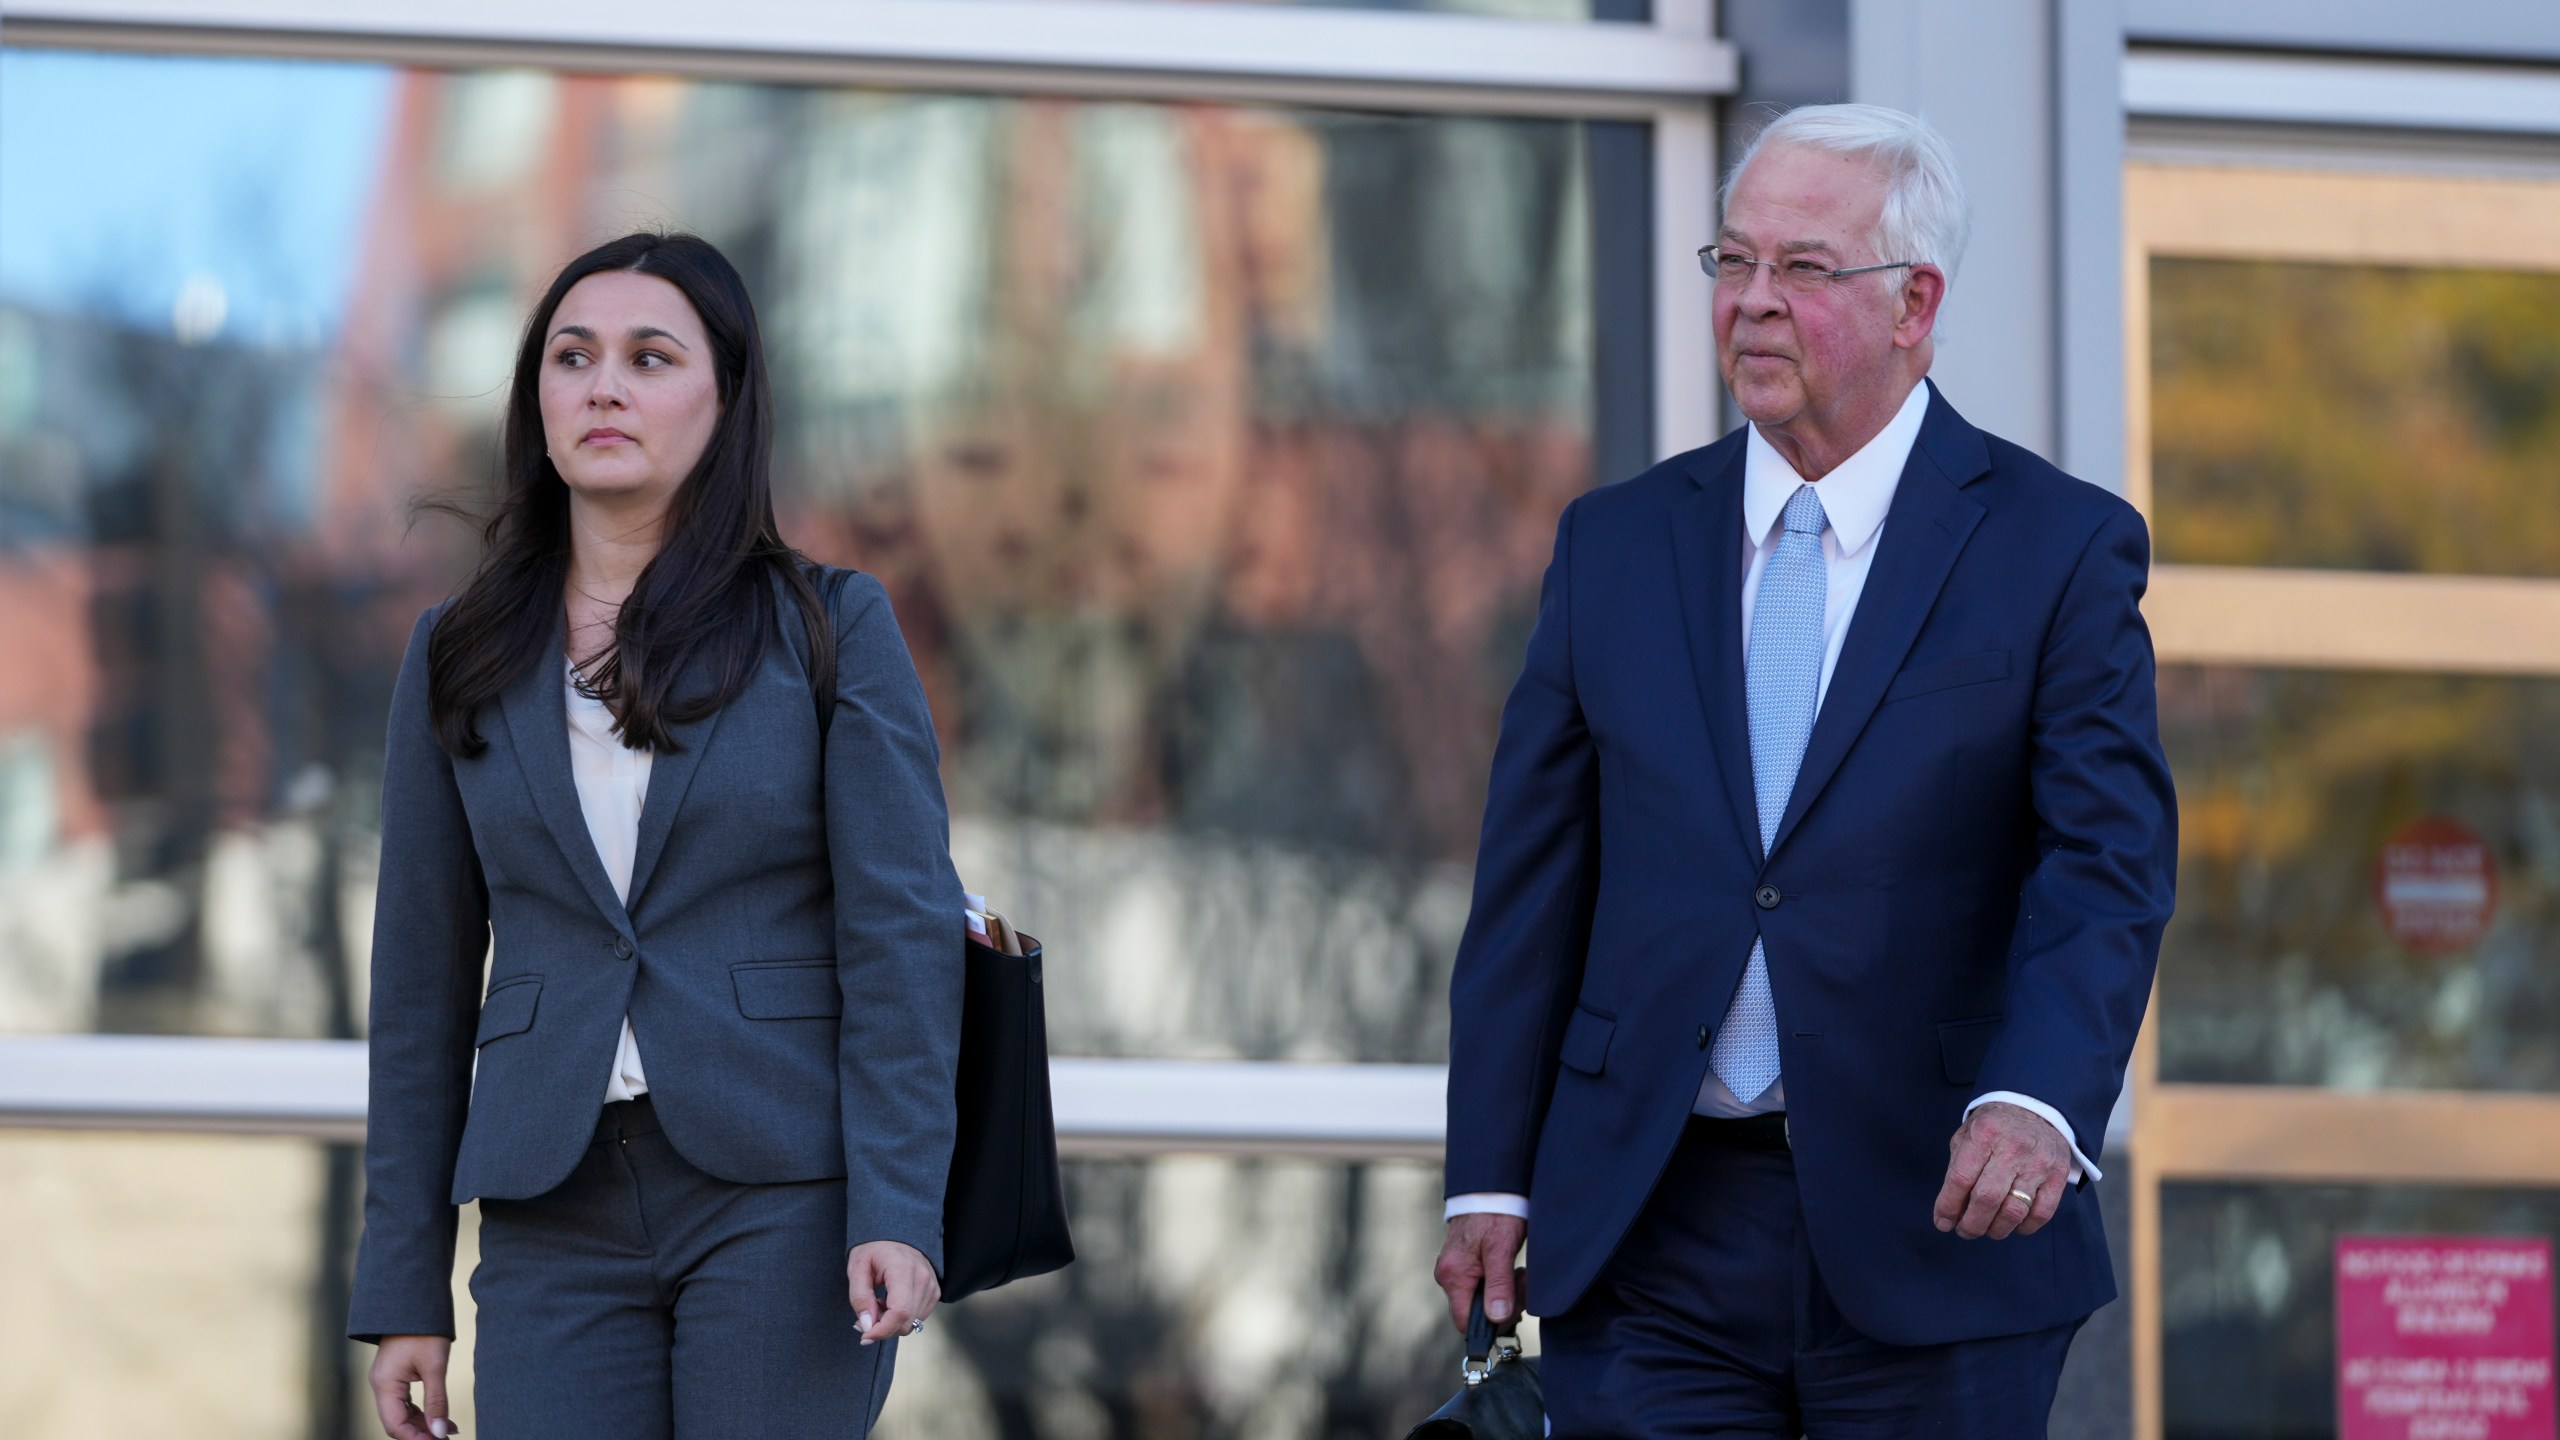
[[[1659,26],[1142,0],[10,0],[10,44],[543,64],[786,82],[1641,115],[1728,92],[1733,49]]]

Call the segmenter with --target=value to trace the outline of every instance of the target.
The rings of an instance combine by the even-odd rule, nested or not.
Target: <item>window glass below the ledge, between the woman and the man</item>
[[[1165,1156],[1065,1176],[1078,1261],[906,1343],[883,1440],[1403,1435],[1457,1389],[1436,1163]],[[1523,1338],[1533,1353],[1536,1320]]]

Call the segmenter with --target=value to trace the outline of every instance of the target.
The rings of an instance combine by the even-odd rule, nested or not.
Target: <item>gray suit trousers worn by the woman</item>
[[[607,1104],[558,1189],[481,1199],[484,1440],[860,1440],[896,1343],[845,1294],[845,1181],[737,1184]]]

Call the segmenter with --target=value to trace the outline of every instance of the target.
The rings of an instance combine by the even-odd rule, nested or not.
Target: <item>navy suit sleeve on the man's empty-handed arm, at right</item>
[[[2035,679],[2038,858],[2020,887],[2007,1025],[1979,1089],[2033,1094],[2099,1138],[2150,1002],[2176,889],[2143,582],[2150,538],[2117,510],[2081,551]]]

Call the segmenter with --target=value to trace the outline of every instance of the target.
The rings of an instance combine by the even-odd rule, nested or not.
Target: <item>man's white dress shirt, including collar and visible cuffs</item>
[[[1848,641],[1848,620],[1859,612],[1859,594],[1866,592],[1866,571],[1876,561],[1876,541],[1884,536],[1884,515],[1894,505],[1894,489],[1902,487],[1902,466],[1910,464],[1912,446],[1920,441],[1920,420],[1928,415],[1928,384],[1915,384],[1910,397],[1902,400],[1902,410],[1876,430],[1876,438],[1859,446],[1846,461],[1830,469],[1818,487],[1823,497],[1823,515],[1830,528],[1823,530],[1823,569],[1828,571],[1830,589],[1823,605],[1823,679],[1815,689],[1815,712],[1820,715],[1823,697],[1830,694],[1830,671],[1841,664],[1841,646]],[[1761,433],[1751,425],[1743,438],[1743,533],[1736,538],[1743,548],[1743,656],[1751,653],[1751,610],[1759,600],[1761,571],[1769,569],[1769,556],[1777,553],[1779,541],[1779,515],[1787,510],[1787,500],[1795,497],[1797,487],[1807,484],[1805,477],[1787,464],[1787,456],[1777,454]],[[1774,956],[1772,956],[1774,958]],[[2020,1109],[2040,1115],[2048,1125],[2061,1130],[2063,1140],[2071,1143],[2074,1184],[2086,1174],[2099,1179],[2099,1168],[2081,1153],[2079,1138],[2071,1135],[2071,1122],[2063,1120],[2058,1109],[2040,1099],[2028,1099],[2015,1092],[1994,1089],[1966,1104],[1964,1112],[2004,1099]],[[1736,1120],[1743,1115],[1769,1115],[1787,1109],[1787,1079],[1779,1076],[1769,1081],[1769,1089],[1746,1099],[1738,1099],[1708,1066],[1708,1079],[1697,1086],[1697,1099],[1692,1102],[1697,1115],[1713,1115]],[[1454,1194],[1449,1197],[1452,1217],[1472,1212],[1492,1215],[1528,1215],[1528,1197],[1480,1191],[1480,1194]]]

